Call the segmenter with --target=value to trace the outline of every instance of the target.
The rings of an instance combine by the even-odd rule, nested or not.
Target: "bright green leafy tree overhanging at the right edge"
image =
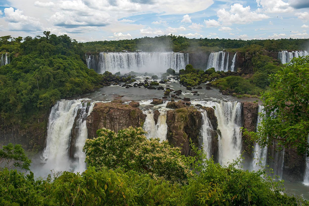
[[[292,61],[269,75],[271,91],[262,93],[265,114],[259,142],[296,148],[309,156],[309,56]],[[280,147],[279,147],[280,148]]]

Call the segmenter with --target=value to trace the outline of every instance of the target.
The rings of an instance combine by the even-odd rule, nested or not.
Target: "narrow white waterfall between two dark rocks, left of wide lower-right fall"
[[[201,128],[201,137],[202,137],[202,144],[203,144],[203,150],[207,153],[207,159],[211,157],[211,146],[212,146],[212,131],[214,128],[212,127],[210,123],[210,119],[207,116],[207,112],[204,110],[202,112],[202,118],[203,118],[203,125]]]

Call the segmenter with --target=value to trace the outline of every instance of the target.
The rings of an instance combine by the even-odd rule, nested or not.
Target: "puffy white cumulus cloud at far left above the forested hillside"
[[[10,7],[4,9],[5,21],[8,23],[10,31],[26,31],[33,32],[41,30],[41,25],[38,19],[23,15],[23,11]]]

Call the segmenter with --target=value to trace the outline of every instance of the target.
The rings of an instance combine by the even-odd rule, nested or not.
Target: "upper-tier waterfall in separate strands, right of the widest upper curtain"
[[[230,61],[229,52],[212,52],[209,55],[207,69],[214,67],[216,71],[234,71],[236,63],[236,53]],[[230,64],[230,62],[232,64]]]

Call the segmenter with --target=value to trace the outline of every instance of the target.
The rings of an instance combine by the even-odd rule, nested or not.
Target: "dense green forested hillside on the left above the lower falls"
[[[67,35],[0,38],[0,53],[11,63],[0,68],[0,117],[3,125],[33,123],[57,100],[92,91],[104,82],[121,80],[88,69],[82,45]]]

